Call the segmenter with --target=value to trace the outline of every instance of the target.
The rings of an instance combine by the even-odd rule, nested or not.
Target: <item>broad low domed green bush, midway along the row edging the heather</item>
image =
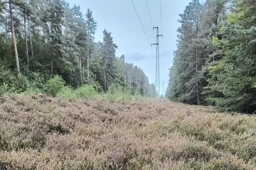
[[[75,96],[77,99],[96,99],[98,93],[95,91],[93,86],[84,85],[75,90]]]

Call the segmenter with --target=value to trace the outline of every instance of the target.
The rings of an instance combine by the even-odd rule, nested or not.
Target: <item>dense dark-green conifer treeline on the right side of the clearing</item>
[[[193,0],[180,14],[166,96],[256,111],[256,1]]]

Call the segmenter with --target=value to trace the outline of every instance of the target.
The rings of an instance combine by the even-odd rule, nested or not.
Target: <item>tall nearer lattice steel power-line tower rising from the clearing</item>
[[[160,82],[159,82],[159,44],[158,44],[158,37],[163,35],[158,35],[158,27],[153,27],[153,30],[156,28],[156,44],[151,44],[156,45],[156,90],[155,90],[155,98],[156,98],[156,91],[158,92],[158,96],[160,98]]]

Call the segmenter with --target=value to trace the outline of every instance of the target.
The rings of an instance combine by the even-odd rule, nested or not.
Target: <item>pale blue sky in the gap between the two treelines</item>
[[[173,51],[176,50],[177,43],[176,30],[180,26],[177,22],[179,14],[184,12],[190,1],[161,0],[160,13],[160,0],[147,0],[149,16],[146,0],[133,0],[147,39],[132,0],[67,0],[70,6],[80,5],[83,15],[87,8],[92,11],[93,18],[98,22],[95,41],[102,41],[104,29],[111,32],[113,41],[118,46],[116,56],[124,55],[126,62],[138,65],[149,77],[149,82],[154,84],[156,45],[151,48],[150,44],[156,43],[156,29],[153,31],[152,25],[158,27],[159,35],[163,35],[163,39],[159,37],[160,94],[163,93],[163,88],[165,94],[169,81],[168,69],[172,66]]]

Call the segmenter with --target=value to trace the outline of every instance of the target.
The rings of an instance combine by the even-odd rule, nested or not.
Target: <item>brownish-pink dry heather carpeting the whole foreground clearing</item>
[[[9,96],[0,99],[0,169],[251,170],[255,129],[255,118],[168,100]]]

